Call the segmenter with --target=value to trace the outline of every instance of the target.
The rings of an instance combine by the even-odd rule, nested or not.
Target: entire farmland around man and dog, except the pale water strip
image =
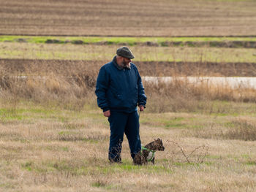
[[[0,191],[256,191],[256,90],[189,76],[256,76],[256,1],[0,0]],[[198,36],[198,37],[197,37]],[[156,164],[109,164],[99,68],[128,45]],[[184,81],[175,77],[184,77]]]

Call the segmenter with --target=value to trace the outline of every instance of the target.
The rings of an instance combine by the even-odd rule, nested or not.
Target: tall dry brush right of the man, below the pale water
[[[256,90],[233,89],[228,85],[208,85],[174,79],[171,82],[144,82],[151,112],[214,112],[212,101],[255,102]],[[216,107],[216,106],[215,106]],[[218,110],[219,112],[219,110]]]

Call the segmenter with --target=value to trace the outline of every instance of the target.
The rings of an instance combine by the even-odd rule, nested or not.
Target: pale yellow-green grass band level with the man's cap
[[[108,61],[120,45],[0,42],[0,58]],[[134,61],[256,63],[255,49],[217,47],[132,47]]]

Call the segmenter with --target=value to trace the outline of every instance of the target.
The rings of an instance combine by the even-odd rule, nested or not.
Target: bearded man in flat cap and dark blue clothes
[[[97,77],[97,104],[110,123],[108,159],[111,163],[121,163],[124,133],[132,158],[141,150],[137,106],[144,110],[146,95],[138,69],[131,63],[133,58],[128,47],[119,47],[113,61],[102,66]]]

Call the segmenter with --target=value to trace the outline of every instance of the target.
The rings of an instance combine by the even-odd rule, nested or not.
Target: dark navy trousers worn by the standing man
[[[132,158],[141,150],[140,125],[138,112],[124,113],[110,111],[108,118],[110,123],[110,146],[108,159],[110,161],[121,161],[121,145],[124,133],[129,142],[129,149]]]

